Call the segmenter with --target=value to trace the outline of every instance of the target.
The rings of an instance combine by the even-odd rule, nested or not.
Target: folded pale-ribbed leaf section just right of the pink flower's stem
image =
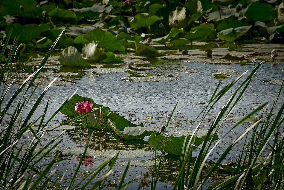
[[[101,109],[95,111],[92,113],[92,115],[87,116],[88,121],[88,127],[89,128],[95,128],[97,130],[106,130],[106,131],[112,131],[112,127],[109,126],[107,123],[108,119],[106,116],[109,114],[109,110],[103,111]],[[82,119],[82,125],[84,127],[87,126],[86,119]]]

